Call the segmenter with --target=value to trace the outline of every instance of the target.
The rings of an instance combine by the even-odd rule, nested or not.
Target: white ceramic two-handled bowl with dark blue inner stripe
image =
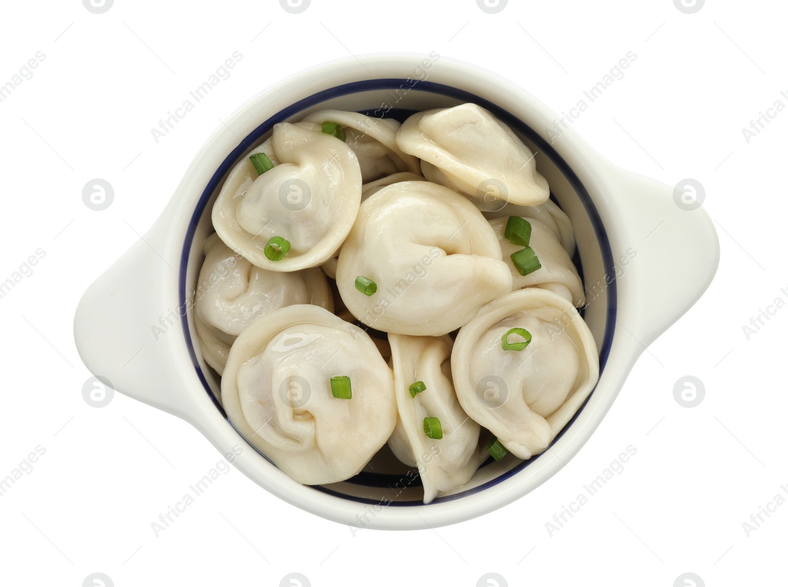
[[[363,66],[347,59],[299,73],[252,98],[214,132],[144,241],[85,293],[76,310],[76,346],[87,367],[117,391],[184,418],[222,453],[242,446],[235,465],[289,503],[352,526],[443,526],[519,499],[578,452],[638,355],[708,287],[719,244],[704,210],[679,206],[673,187],[612,165],[571,128],[551,144],[547,129],[557,115],[491,72],[434,53],[360,61]],[[589,299],[585,320],[600,350],[600,381],[550,450],[526,463],[511,455],[487,463],[463,489],[429,505],[421,503],[418,478],[382,456],[374,461],[374,472],[351,481],[299,485],[225,418],[212,395],[218,378],[196,343],[189,299],[203,262],[203,240],[212,232],[210,210],[221,181],[280,121],[325,108],[403,116],[403,110],[461,102],[485,106],[522,136],[537,153],[537,167],[553,197],[571,218],[578,242],[575,261]]]

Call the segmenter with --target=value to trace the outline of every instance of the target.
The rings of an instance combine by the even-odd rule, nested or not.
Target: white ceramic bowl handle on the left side
[[[195,371],[186,368],[176,255],[157,252],[166,248],[156,240],[162,232],[151,229],[87,288],[74,339],[91,373],[118,392],[191,421],[187,389]]]

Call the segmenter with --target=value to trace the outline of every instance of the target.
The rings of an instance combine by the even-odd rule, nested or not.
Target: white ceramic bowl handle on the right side
[[[639,354],[712,283],[719,240],[706,211],[682,201],[678,187],[612,165],[608,176],[610,213],[622,227],[613,244],[615,265],[622,252],[635,254],[617,280],[617,319]]]

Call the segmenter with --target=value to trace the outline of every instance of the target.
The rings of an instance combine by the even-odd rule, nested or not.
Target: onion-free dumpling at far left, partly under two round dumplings
[[[260,269],[233,253],[217,234],[205,240],[203,253],[195,292],[195,329],[203,359],[220,375],[236,336],[261,316],[304,303],[334,309],[320,269],[291,273]]]

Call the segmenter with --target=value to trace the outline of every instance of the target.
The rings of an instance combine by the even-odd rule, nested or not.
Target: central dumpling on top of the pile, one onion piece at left
[[[374,329],[441,336],[511,291],[511,271],[473,203],[437,184],[403,181],[362,202],[336,285],[351,314]]]

